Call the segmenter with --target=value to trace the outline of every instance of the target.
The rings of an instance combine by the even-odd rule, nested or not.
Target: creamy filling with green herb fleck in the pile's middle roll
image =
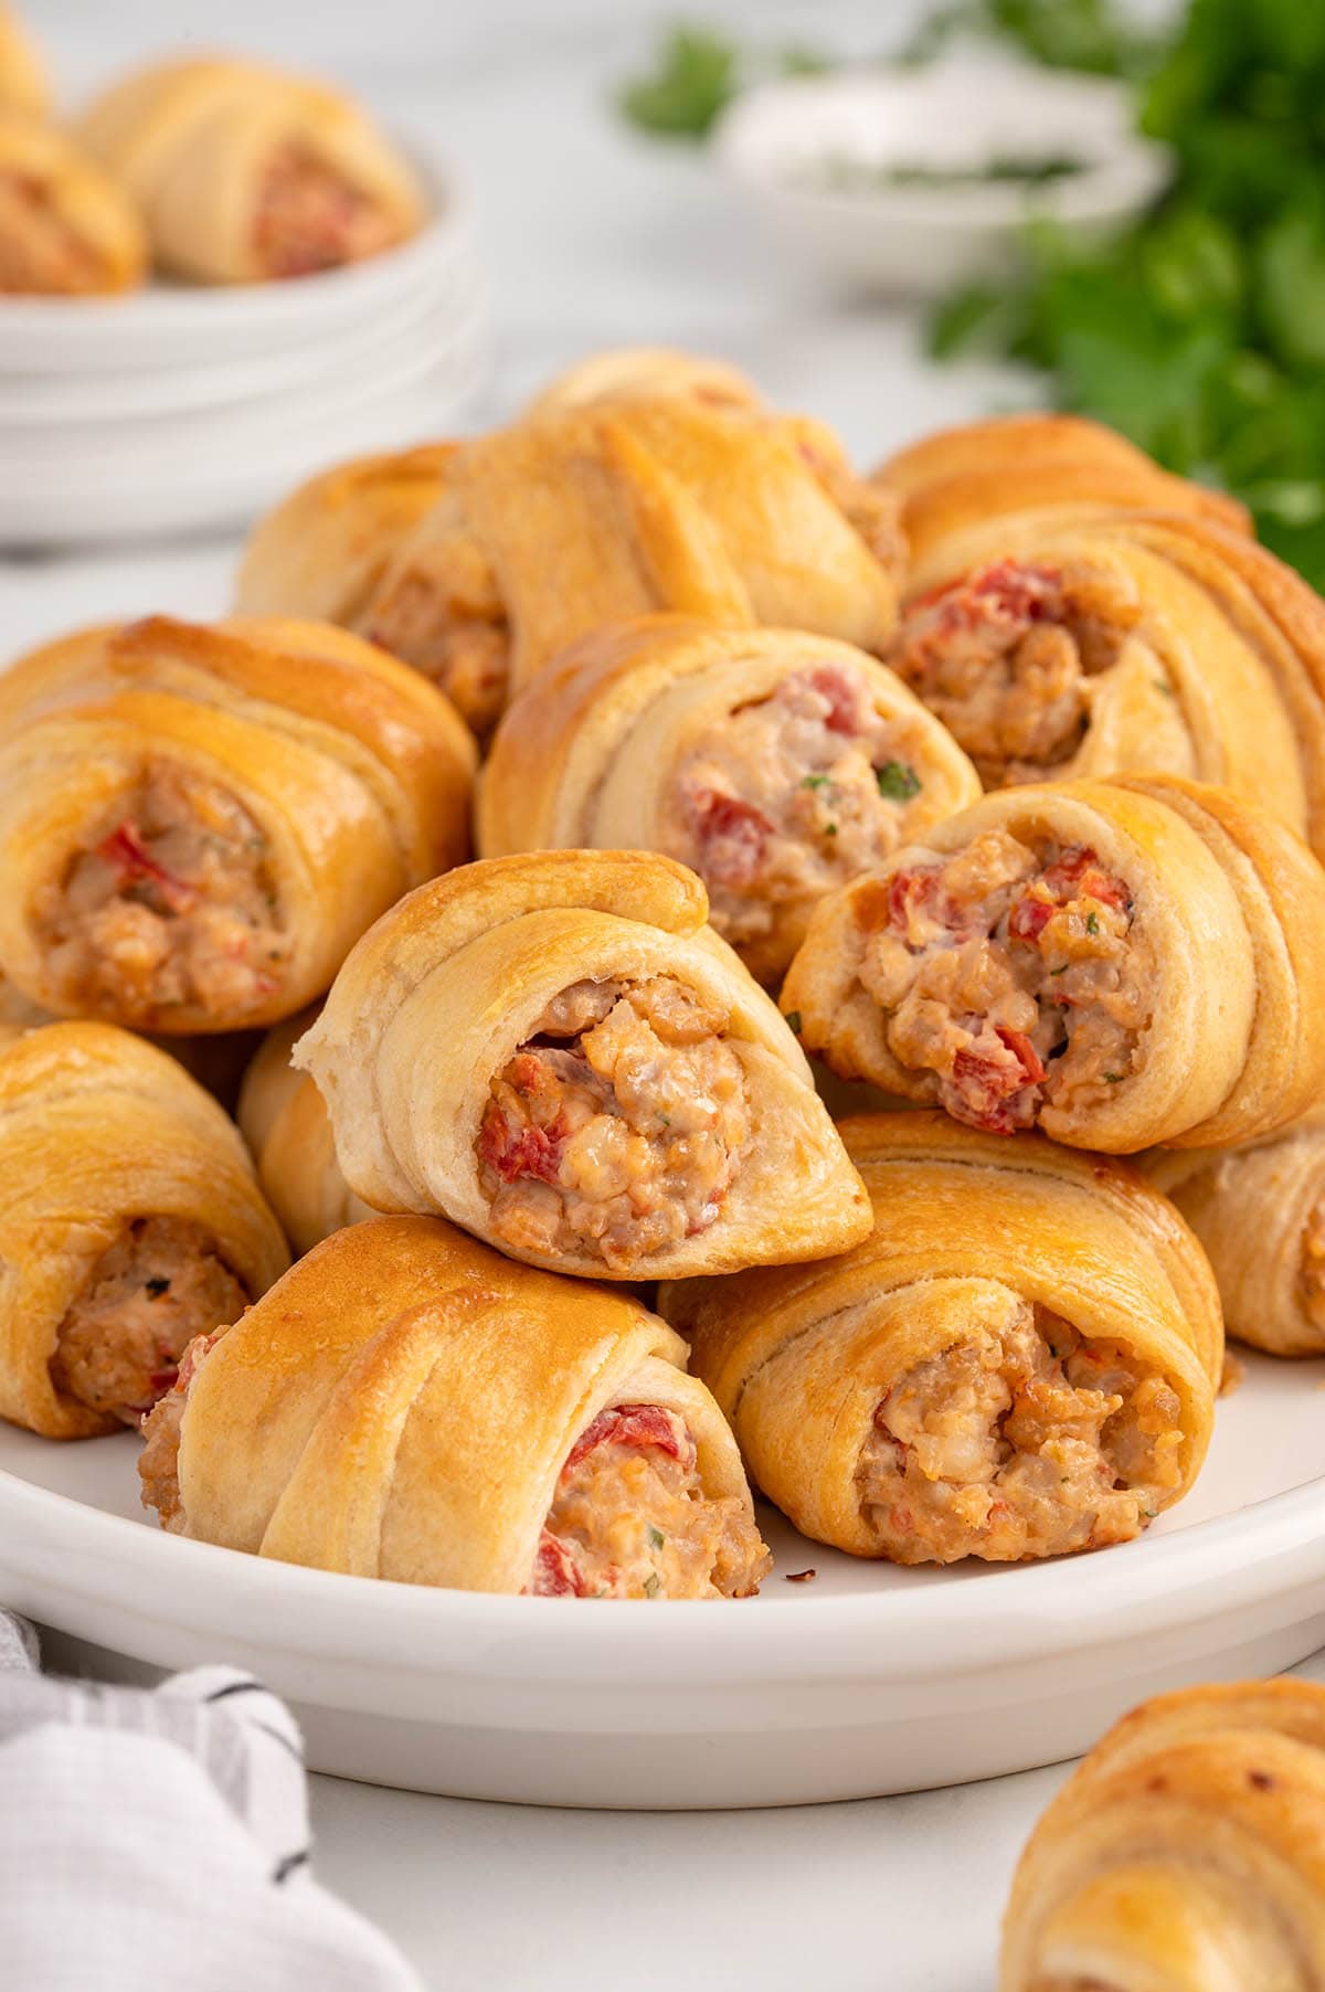
[[[793,671],[703,731],[675,767],[669,849],[707,884],[717,932],[755,940],[781,902],[889,857],[923,789],[913,751],[843,663]]]

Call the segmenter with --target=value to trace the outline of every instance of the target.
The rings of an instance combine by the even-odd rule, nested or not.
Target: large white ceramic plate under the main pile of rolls
[[[1086,1749],[1144,1695],[1325,1643],[1325,1365],[1253,1359],[1193,1494],[1058,1564],[891,1570],[769,1518],[751,1602],[371,1584],[163,1536],[132,1436],[0,1426],[0,1596],[102,1671],[233,1659],[321,1771],[534,1805],[715,1807],[964,1783]],[[815,1568],[813,1584],[785,1574]],[[62,1641],[62,1659],[82,1645]]]

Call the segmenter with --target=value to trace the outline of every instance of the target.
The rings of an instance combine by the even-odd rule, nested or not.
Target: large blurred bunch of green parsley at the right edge
[[[1042,369],[1168,468],[1219,484],[1325,590],[1325,8],[1192,0],[1140,96],[1172,193],[1104,247],[1038,227],[1030,271],[948,299],[938,357]]]

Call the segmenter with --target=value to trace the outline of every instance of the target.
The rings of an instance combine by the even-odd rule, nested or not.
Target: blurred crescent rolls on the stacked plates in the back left
[[[305,277],[422,219],[412,167],[351,96],[259,62],[155,62],[56,122],[46,64],[0,0],[0,295]]]

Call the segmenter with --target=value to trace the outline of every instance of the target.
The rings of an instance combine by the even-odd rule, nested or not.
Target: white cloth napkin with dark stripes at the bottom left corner
[[[261,1681],[58,1681],[0,1612],[0,1984],[420,1992],[309,1868],[299,1729]]]

